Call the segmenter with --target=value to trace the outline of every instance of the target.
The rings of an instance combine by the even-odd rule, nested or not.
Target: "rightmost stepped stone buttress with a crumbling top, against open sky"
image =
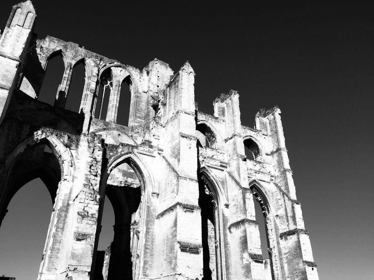
[[[285,261],[286,274],[293,279],[318,279],[316,264],[313,260],[310,246],[309,232],[304,228],[301,205],[296,200],[295,185],[292,179],[292,170],[283,136],[281,110],[275,107],[262,112],[262,118],[269,122],[270,137],[273,143],[273,167],[275,168],[275,181],[277,187],[283,190],[283,211],[286,217],[280,217],[279,223],[283,229],[279,234],[280,244]]]

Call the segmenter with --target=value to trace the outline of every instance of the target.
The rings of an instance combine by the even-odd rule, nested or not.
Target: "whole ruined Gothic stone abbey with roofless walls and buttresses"
[[[200,112],[190,63],[174,72],[154,59],[140,70],[37,38],[35,19],[23,1],[1,32],[0,223],[13,195],[40,177],[54,206],[37,279],[318,279],[278,107],[246,127],[231,90],[213,101],[214,115]],[[55,56],[65,71],[52,106],[38,97]],[[77,63],[85,85],[74,112],[65,105]],[[126,125],[117,123],[123,86]],[[97,251],[105,197],[114,239]]]

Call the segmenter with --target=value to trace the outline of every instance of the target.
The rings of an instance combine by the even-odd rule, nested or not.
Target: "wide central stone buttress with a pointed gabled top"
[[[163,184],[156,217],[154,275],[150,278],[202,278],[194,75],[186,62],[169,83],[166,105],[162,107],[166,116],[160,135],[164,148],[160,162]]]

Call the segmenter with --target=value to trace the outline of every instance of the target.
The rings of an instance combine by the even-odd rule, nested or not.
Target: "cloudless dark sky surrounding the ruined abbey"
[[[244,125],[252,126],[260,108],[278,105],[319,279],[373,279],[373,2],[251,2],[35,0],[35,32],[140,69],[155,57],[174,71],[188,60],[199,110],[213,113],[214,98],[233,88]],[[1,27],[16,3],[1,1]],[[31,230],[18,228],[22,218],[10,208],[29,214],[20,207],[30,193],[20,198],[25,203],[10,203],[3,223],[22,240]],[[34,271],[51,209],[50,200],[38,201],[47,211],[36,234],[42,245],[23,245],[37,259]],[[30,219],[39,222],[39,216]],[[21,259],[20,245],[4,227],[0,275],[21,275],[21,265],[10,270]]]

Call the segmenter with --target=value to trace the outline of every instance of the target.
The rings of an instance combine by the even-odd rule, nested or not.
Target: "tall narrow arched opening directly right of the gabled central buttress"
[[[219,210],[217,195],[200,174],[199,206],[201,208],[201,239],[203,254],[203,279],[217,280],[221,275],[221,244],[219,236]]]

